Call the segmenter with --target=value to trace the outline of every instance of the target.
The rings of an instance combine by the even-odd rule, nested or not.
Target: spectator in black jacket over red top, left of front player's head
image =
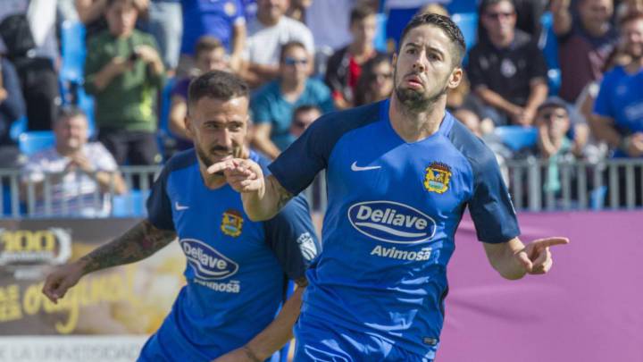
[[[363,63],[380,54],[373,47],[375,38],[375,11],[362,5],[350,13],[350,32],[353,42],[333,54],[326,67],[326,85],[332,91],[335,108],[353,106],[355,86],[362,74]]]

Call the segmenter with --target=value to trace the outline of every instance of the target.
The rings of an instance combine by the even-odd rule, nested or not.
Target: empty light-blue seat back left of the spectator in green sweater
[[[85,25],[80,21],[63,21],[61,25],[60,77],[67,81],[82,82],[85,64]]]

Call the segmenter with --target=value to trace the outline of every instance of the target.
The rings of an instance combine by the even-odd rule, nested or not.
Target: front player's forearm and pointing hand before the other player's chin
[[[233,158],[213,164],[208,173],[223,173],[232,189],[241,193],[244,210],[252,221],[271,219],[293,195],[274,176],[263,177],[259,164]]]

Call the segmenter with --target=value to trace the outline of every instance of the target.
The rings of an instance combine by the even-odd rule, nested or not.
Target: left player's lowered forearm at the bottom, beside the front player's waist
[[[272,356],[293,338],[292,328],[299,317],[302,295],[308,281],[296,281],[296,290],[281,308],[279,315],[245,346],[214,359],[214,362],[261,362]]]

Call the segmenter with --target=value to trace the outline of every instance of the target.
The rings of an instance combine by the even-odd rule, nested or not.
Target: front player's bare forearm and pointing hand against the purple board
[[[568,244],[569,239],[554,237],[533,240],[526,246],[518,238],[507,242],[484,243],[489,263],[509,280],[520,279],[524,274],[546,274],[554,264],[549,247]]]

